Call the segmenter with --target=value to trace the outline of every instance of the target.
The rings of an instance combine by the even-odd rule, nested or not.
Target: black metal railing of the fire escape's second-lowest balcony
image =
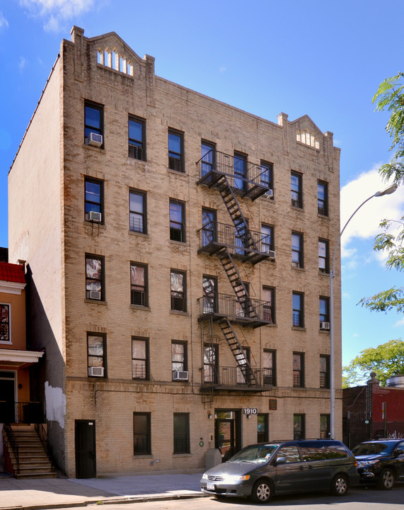
[[[272,323],[271,303],[256,299],[249,299],[246,305],[237,300],[235,295],[212,294],[204,295],[198,299],[200,317],[219,315],[231,319],[252,319]],[[249,302],[253,305],[253,312],[248,313]]]

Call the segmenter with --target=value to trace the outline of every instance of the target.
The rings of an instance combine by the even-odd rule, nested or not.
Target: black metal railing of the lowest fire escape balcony
[[[221,386],[234,390],[270,389],[274,385],[275,377],[272,368],[250,368],[254,374],[256,385],[251,385],[238,367],[204,365],[202,387]],[[248,378],[247,378],[248,379]]]

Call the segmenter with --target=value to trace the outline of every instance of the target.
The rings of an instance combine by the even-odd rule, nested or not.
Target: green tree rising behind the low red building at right
[[[404,341],[390,340],[360,351],[349,365],[342,367],[342,387],[365,384],[371,372],[376,373],[382,386],[391,375],[404,374]]]

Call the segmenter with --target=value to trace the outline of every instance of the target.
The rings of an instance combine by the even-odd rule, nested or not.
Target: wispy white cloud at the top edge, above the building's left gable
[[[45,30],[58,32],[65,21],[90,11],[95,0],[20,0],[20,4],[44,20]]]

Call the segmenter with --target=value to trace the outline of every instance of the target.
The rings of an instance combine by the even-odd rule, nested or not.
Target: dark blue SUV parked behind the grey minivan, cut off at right
[[[393,489],[396,480],[404,482],[404,439],[364,441],[352,450],[358,461],[362,484]]]

